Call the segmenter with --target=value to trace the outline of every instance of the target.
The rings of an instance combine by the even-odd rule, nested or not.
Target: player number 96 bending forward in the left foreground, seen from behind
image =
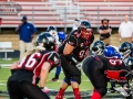
[[[12,75],[7,82],[10,99],[50,99],[44,85],[49,72],[60,65],[60,56],[54,51],[54,37],[48,32],[39,34],[35,48],[11,66]]]

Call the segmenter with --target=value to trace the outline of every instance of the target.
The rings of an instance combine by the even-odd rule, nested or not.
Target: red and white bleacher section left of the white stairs
[[[22,7],[22,11],[12,15],[2,14],[2,28],[16,28],[21,23],[22,15],[28,15],[29,22],[34,23],[37,28],[47,28],[49,25],[64,26],[62,19],[49,2],[18,1],[17,3]]]

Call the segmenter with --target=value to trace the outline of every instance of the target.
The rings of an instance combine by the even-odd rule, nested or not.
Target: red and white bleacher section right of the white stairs
[[[125,14],[133,18],[132,0],[80,0],[80,3],[74,2],[74,4],[80,6],[81,12],[92,22],[93,26],[98,26],[100,20],[106,18],[111,20],[112,26],[117,28]]]

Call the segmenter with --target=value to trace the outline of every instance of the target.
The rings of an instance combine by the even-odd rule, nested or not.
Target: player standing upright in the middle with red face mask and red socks
[[[63,99],[65,89],[71,85],[74,99],[81,99],[79,85],[81,84],[81,70],[79,63],[89,55],[90,45],[94,36],[89,21],[81,21],[78,30],[73,31],[59,47],[61,66],[65,78],[55,99]]]

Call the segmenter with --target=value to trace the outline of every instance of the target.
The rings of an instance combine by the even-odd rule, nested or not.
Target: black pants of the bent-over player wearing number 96
[[[8,80],[7,87],[10,99],[50,99],[38,86],[33,86],[29,81],[19,82],[13,80],[11,76]]]

